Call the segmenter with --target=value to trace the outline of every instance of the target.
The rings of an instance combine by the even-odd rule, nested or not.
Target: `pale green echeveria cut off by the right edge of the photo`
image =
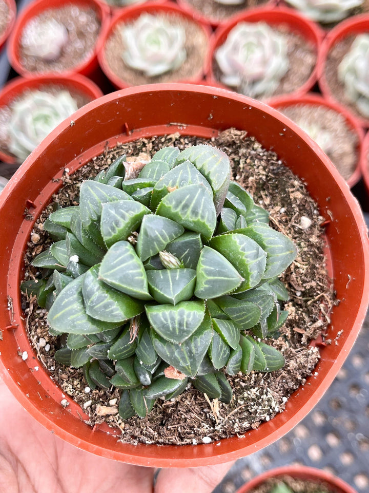
[[[359,34],[338,66],[347,98],[369,118],[369,34]]]

